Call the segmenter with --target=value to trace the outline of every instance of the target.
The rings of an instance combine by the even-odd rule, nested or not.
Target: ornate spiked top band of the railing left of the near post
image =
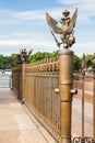
[[[59,72],[59,59],[58,58],[50,58],[47,61],[41,61],[34,63],[32,65],[27,65],[25,68],[26,73],[34,73],[34,74],[43,74],[43,75],[55,75]]]

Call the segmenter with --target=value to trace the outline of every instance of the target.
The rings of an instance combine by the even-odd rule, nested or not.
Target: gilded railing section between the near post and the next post
[[[36,118],[60,140],[60,97],[55,92],[59,87],[58,73],[57,58],[26,65],[24,98]]]

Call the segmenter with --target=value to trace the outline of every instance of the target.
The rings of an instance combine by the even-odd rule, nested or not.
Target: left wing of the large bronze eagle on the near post
[[[59,34],[63,34],[62,30],[57,26],[58,22],[55,19],[52,19],[47,12],[46,12],[46,20],[47,20],[48,25],[52,28],[52,31]]]

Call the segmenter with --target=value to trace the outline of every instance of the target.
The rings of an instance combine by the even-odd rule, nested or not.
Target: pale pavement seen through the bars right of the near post
[[[82,100],[72,100],[72,136],[82,136]],[[93,138],[93,103],[84,102],[84,136]]]

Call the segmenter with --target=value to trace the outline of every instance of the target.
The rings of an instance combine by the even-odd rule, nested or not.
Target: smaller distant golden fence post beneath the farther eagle
[[[25,96],[25,64],[22,64],[22,73],[21,73],[21,79],[22,79],[22,81],[21,81],[21,100],[24,100],[24,96]]]

